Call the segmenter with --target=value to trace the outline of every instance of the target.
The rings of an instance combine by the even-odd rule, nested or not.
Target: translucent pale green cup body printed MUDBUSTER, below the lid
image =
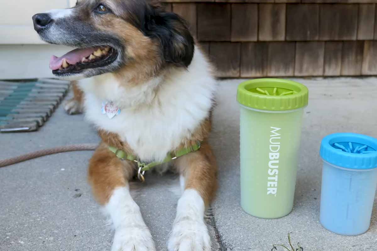
[[[280,218],[293,208],[303,108],[266,111],[241,105],[241,207]]]

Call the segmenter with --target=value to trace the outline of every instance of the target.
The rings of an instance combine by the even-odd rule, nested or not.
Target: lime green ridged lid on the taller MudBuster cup
[[[274,78],[253,79],[238,86],[237,101],[270,111],[294,110],[308,105],[308,88],[300,83]]]

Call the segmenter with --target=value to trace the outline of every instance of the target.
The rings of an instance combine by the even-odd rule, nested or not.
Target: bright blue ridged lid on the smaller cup
[[[352,169],[377,167],[377,139],[356,133],[336,133],[323,138],[320,155],[336,166]]]

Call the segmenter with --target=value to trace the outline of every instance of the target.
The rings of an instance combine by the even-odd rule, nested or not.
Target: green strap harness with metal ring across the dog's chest
[[[195,145],[192,145],[188,148],[182,148],[182,149],[179,149],[176,152],[169,153],[166,156],[166,158],[161,162],[154,161],[154,162],[149,163],[149,164],[141,162],[141,161],[137,160],[134,155],[127,154],[125,151],[118,149],[118,148],[115,148],[113,146],[109,146],[109,150],[112,151],[115,154],[115,156],[120,158],[121,160],[130,160],[130,161],[136,162],[138,164],[138,167],[139,167],[138,178],[139,178],[140,181],[144,181],[144,173],[146,171],[149,171],[150,169],[152,169],[153,167],[155,167],[159,164],[168,163],[168,162],[175,160],[175,159],[177,159],[177,158],[179,158],[183,155],[189,154],[190,152],[196,152],[200,149],[200,145],[201,145],[201,142],[198,141]]]

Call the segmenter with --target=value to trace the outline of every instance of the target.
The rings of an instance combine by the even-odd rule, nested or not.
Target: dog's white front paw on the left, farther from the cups
[[[156,247],[146,226],[121,227],[115,230],[111,251],[156,251]]]

